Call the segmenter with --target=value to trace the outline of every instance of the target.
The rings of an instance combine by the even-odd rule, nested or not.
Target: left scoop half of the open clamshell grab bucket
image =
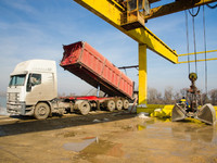
[[[171,111],[171,121],[182,121],[187,117],[187,112],[183,108],[181,108],[178,103],[174,105],[174,109]]]

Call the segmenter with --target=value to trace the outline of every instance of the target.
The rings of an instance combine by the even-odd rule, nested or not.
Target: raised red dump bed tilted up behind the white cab
[[[101,53],[84,41],[63,46],[61,66],[110,97],[132,99],[133,82]]]

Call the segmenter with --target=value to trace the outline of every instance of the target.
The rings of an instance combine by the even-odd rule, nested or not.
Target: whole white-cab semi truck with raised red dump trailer
[[[87,115],[97,109],[111,112],[128,109],[133,97],[133,82],[129,77],[87,42],[63,46],[63,50],[60,65],[105,96],[58,97],[55,61],[29,60],[18,63],[10,75],[7,92],[9,113],[44,120],[52,113],[79,112]]]

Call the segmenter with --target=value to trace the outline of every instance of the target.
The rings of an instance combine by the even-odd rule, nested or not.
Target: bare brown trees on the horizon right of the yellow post
[[[182,88],[179,91],[173,89],[173,87],[165,88],[164,92],[159,92],[155,88],[148,88],[148,103],[149,104],[174,104],[180,101],[182,97],[187,97],[187,90],[189,88]],[[217,89],[212,89],[207,93],[201,91],[202,103],[212,103],[217,105]]]

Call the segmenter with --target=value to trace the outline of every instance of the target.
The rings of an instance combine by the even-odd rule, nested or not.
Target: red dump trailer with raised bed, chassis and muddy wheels
[[[107,96],[100,97],[67,97],[65,101],[73,103],[71,110],[87,114],[93,108],[128,109],[132,100],[133,82],[119,71],[101,53],[84,41],[63,46],[63,59],[60,65],[75,74],[91,86],[104,91]]]

